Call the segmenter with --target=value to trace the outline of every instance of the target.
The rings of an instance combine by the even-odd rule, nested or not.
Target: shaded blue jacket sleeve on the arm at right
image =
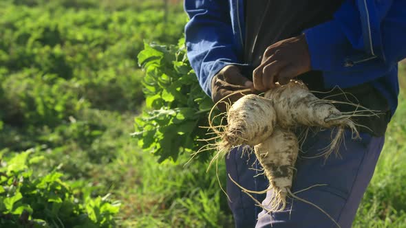
[[[323,71],[325,87],[336,84],[350,87],[374,80],[394,69],[398,61],[406,57],[406,14],[403,13],[406,1],[385,1],[391,4],[388,10],[374,12],[379,14],[378,19],[381,18],[381,34],[373,35],[381,39],[378,45],[382,53],[375,53],[371,59],[356,62],[351,67],[346,66],[348,58],[365,56],[367,48],[362,32],[365,28],[355,1],[346,0],[334,13],[334,19],[304,31],[312,69]],[[368,77],[363,73],[363,78],[354,78],[357,71],[367,71]]]

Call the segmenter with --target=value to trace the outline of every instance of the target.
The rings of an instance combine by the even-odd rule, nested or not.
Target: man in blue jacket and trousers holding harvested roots
[[[215,102],[233,91],[261,92],[298,78],[312,91],[347,99],[330,91],[338,86],[353,94],[352,102],[385,113],[356,119],[367,128],[359,129],[362,140],[346,133],[341,159],[299,158],[296,164],[292,192],[325,184],[297,196],[323,208],[341,227],[350,227],[397,106],[397,64],[406,57],[406,1],[185,0],[184,7],[191,19],[185,27],[189,60],[202,89]],[[301,145],[306,157],[318,155],[329,144],[330,134],[324,130],[309,135]],[[237,149],[226,159],[227,172],[249,190],[268,185],[264,176],[253,177],[258,166],[255,157],[242,157]],[[259,213],[260,208],[230,181],[227,193],[236,227],[336,226],[301,201],[268,214]],[[255,197],[266,206],[272,194]]]

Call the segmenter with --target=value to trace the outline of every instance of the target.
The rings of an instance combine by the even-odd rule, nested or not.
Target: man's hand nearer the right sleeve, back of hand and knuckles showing
[[[262,62],[253,72],[254,87],[267,91],[275,83],[287,84],[292,78],[310,71],[308,44],[303,35],[288,38],[270,45]]]

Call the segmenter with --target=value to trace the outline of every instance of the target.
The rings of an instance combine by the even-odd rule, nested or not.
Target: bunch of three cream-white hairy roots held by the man
[[[299,155],[299,142],[294,130],[298,127],[336,128],[330,145],[322,153],[327,158],[332,152],[338,152],[345,129],[352,131],[353,138],[359,137],[353,117],[376,115],[350,102],[348,104],[355,106],[354,111],[343,113],[336,109],[335,102],[317,98],[305,84],[297,80],[279,85],[264,96],[244,95],[233,105],[228,105],[227,124],[213,126],[213,119],[209,116],[210,128],[217,134],[217,137],[212,138],[217,139],[216,143],[209,144],[217,148],[213,161],[227,155],[232,148],[252,146],[270,183],[262,193],[273,191],[269,205],[259,205],[272,213],[286,209],[288,196],[310,203],[290,192]],[[261,193],[244,188],[242,190],[247,194]]]

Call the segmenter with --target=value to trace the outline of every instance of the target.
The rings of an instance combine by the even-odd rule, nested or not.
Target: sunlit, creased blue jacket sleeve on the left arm
[[[211,96],[211,80],[238,54],[228,1],[185,0],[190,21],[185,27],[187,56],[204,92]]]

